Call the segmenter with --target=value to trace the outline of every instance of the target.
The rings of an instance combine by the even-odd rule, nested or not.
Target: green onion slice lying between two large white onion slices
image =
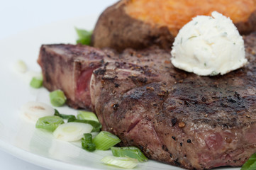
[[[62,123],[64,123],[64,121],[59,116],[45,116],[43,118],[38,119],[38,121],[35,124],[35,128],[45,129],[50,132],[53,132]]]

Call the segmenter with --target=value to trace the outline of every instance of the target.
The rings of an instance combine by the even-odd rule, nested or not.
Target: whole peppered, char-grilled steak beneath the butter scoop
[[[88,98],[73,95],[71,99],[72,95],[67,95],[71,106],[94,108],[103,130],[118,135],[123,146],[139,147],[150,159],[186,169],[211,169],[240,166],[256,152],[255,40],[256,34],[245,37],[250,64],[217,77],[175,69],[169,52],[155,48],[117,54],[86,46],[60,45],[54,49],[57,45],[43,45],[38,61],[44,85],[69,94],[65,83],[77,84],[74,77],[81,75],[72,76],[77,72],[74,59],[83,58],[84,64],[91,58],[70,55],[67,47],[79,47],[86,54],[94,52],[97,59],[101,56],[94,60],[99,68],[91,76],[90,92],[88,88],[84,92],[91,95],[91,103],[76,105]],[[60,59],[63,62],[57,63]],[[87,70],[88,64],[84,65]],[[55,78],[62,83],[57,84]],[[73,91],[77,86],[72,86]]]

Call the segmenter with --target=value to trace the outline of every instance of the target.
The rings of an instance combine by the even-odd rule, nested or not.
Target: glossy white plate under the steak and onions
[[[97,16],[87,16],[62,21],[37,29],[28,30],[19,35],[0,41],[0,148],[27,162],[48,169],[116,169],[101,164],[100,160],[111,155],[109,151],[84,151],[77,143],[55,140],[52,134],[36,130],[35,126],[23,120],[19,108],[27,101],[50,103],[48,91],[29,86],[28,77],[13,70],[17,60],[23,60],[29,70],[40,72],[36,63],[40,45],[50,43],[74,43],[77,35],[74,26],[92,29]],[[61,113],[75,114],[71,108],[58,108]],[[173,169],[175,166],[160,162],[140,163],[135,169]],[[238,170],[239,168],[222,168]]]

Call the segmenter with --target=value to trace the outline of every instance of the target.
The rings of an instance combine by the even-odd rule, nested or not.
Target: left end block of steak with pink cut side
[[[82,45],[42,45],[38,64],[43,72],[43,86],[49,91],[61,89],[72,108],[91,109],[89,82],[94,69],[106,54]]]

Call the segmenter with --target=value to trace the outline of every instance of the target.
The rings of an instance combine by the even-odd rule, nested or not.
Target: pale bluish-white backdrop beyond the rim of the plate
[[[99,14],[117,0],[0,0],[0,40],[48,23]],[[86,22],[86,21],[84,21]],[[14,50],[14,49],[13,49]],[[0,56],[3,60],[4,57]],[[0,150],[1,169],[45,170]]]

